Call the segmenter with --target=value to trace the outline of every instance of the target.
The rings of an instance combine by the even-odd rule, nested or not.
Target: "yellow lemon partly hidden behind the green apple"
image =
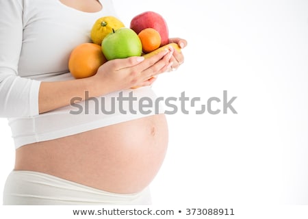
[[[92,42],[101,45],[103,38],[112,32],[112,29],[116,30],[125,25],[118,18],[114,16],[103,16],[94,23],[90,37]]]

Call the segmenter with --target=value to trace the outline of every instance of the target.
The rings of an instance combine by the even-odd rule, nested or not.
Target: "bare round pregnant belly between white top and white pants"
[[[33,170],[118,193],[140,192],[166,154],[164,114],[118,123],[74,136],[22,146],[16,170]]]

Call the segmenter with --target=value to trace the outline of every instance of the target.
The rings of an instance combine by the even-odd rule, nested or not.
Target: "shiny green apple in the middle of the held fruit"
[[[105,36],[101,49],[107,60],[121,59],[142,54],[139,36],[130,28],[122,27]]]

